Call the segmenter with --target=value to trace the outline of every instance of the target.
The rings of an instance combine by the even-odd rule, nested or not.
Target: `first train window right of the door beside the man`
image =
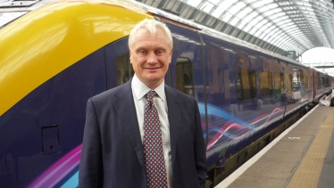
[[[257,95],[256,72],[248,69],[237,70],[238,100],[253,99]]]

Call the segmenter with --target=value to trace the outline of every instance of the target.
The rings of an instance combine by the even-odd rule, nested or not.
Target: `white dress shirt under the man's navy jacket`
[[[161,123],[160,129],[162,131],[163,139],[163,157],[166,166],[168,187],[172,188],[170,123],[168,120],[166,94],[164,93],[164,82],[155,89],[151,89],[143,82],[141,82],[135,74],[131,81],[131,89],[133,94],[133,101],[135,102],[135,107],[137,111],[139,131],[142,143],[144,143],[144,110],[147,102],[146,94],[150,90],[154,90],[158,95],[154,96],[153,102],[156,109],[158,110],[159,120]]]

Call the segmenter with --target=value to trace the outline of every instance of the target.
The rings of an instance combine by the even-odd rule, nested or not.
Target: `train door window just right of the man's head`
[[[176,59],[176,87],[180,92],[194,96],[193,66],[188,58]]]

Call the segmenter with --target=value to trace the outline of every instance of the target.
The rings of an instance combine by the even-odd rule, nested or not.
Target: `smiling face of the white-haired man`
[[[139,29],[129,52],[132,67],[137,77],[151,89],[163,83],[169,64],[172,49],[162,29],[151,35],[146,29]]]

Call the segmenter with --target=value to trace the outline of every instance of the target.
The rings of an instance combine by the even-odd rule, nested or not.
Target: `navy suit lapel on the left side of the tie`
[[[117,110],[117,114],[121,119],[121,124],[123,125],[127,135],[129,136],[129,140],[137,153],[138,160],[144,168],[144,150],[140,138],[136,107],[133,102],[131,80],[129,80],[129,82],[127,82],[124,86],[120,87],[120,92],[117,94],[117,97],[118,99],[115,100],[114,107]]]

